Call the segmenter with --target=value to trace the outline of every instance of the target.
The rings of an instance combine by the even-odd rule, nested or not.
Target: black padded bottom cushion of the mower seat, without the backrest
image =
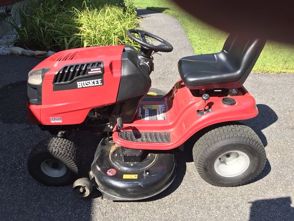
[[[181,79],[186,86],[203,87],[238,81],[240,78],[228,62],[218,54],[183,57],[178,62]]]

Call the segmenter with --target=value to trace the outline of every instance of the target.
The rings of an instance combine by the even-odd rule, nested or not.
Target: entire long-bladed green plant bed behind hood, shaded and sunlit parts
[[[126,36],[136,28],[134,3],[131,0],[31,0],[19,8],[21,24],[10,22],[18,33],[16,45],[34,50],[129,44]]]

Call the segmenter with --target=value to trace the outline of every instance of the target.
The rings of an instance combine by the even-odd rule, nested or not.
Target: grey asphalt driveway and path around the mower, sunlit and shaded
[[[148,14],[141,24],[174,46],[174,55],[154,56],[156,71],[151,74],[153,86],[168,90],[179,79],[177,59],[192,55],[192,48],[183,40],[187,37],[182,29],[171,29],[172,24],[181,27],[168,15]],[[76,198],[70,186],[47,187],[28,174],[30,149],[49,137],[25,114],[27,73],[40,61],[0,55],[0,220],[293,220],[294,75],[251,74],[245,82],[259,109],[259,115],[245,123],[262,139],[268,156],[266,168],[252,183],[234,188],[207,184],[197,174],[187,143],[166,191],[140,202],[113,202],[101,200],[98,192]],[[75,140],[82,149],[84,176],[98,141],[87,133]]]

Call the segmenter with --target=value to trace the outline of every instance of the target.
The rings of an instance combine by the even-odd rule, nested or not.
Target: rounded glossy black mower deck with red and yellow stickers
[[[95,153],[89,175],[103,199],[145,199],[171,185],[176,175],[176,151],[128,150],[124,155],[122,148],[111,138],[103,138]],[[142,156],[138,158],[139,152]]]

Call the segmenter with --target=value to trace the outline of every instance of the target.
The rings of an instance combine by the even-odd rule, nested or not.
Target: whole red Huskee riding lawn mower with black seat
[[[180,80],[166,93],[150,88],[149,75],[153,53],[171,52],[172,45],[143,30],[127,35],[139,52],[123,45],[66,50],[29,72],[28,119],[53,135],[32,149],[29,173],[46,185],[72,184],[80,171],[73,134],[87,131],[102,139],[89,178],[73,183],[81,197],[93,186],[111,200],[161,193],[176,176],[183,144],[196,135],[192,154],[204,181],[234,187],[255,178],[266,152],[239,121],[258,114],[243,83],[266,41],[230,34],[219,53],[181,58]]]

